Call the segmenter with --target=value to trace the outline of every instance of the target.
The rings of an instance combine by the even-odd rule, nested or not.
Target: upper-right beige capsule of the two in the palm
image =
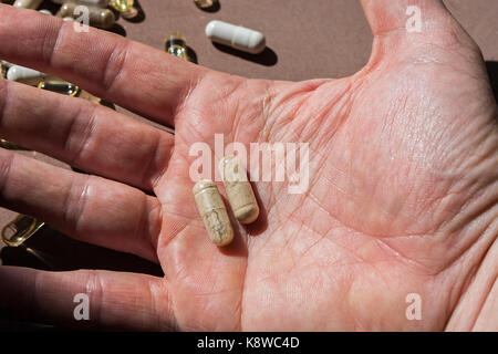
[[[259,216],[259,206],[240,158],[234,155],[224,157],[219,162],[219,171],[225,184],[228,201],[237,220],[241,223],[256,221]]]

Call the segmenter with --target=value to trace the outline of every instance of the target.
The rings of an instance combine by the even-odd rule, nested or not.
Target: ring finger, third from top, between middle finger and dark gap
[[[75,239],[157,261],[157,198],[0,149],[0,205]]]

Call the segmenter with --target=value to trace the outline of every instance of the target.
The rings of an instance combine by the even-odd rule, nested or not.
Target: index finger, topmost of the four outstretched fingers
[[[173,125],[178,105],[207,72],[163,51],[37,11],[0,4],[0,58],[49,72],[93,94]]]

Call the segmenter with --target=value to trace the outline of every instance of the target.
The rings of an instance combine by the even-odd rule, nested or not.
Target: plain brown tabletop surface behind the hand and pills
[[[479,44],[485,59],[497,62],[498,1],[445,2]],[[167,33],[178,30],[196,52],[199,64],[232,74],[292,81],[341,77],[360,70],[371,51],[372,35],[356,0],[221,0],[219,11],[212,13],[197,9],[191,0],[141,0],[139,3],[145,14],[143,21],[118,20],[121,32],[127,38],[164,49]],[[214,19],[262,31],[270,50],[259,56],[220,51],[204,35],[205,25]],[[496,63],[489,63],[488,67],[496,75]],[[45,159],[40,154],[37,158]],[[14,216],[0,209],[0,225]],[[81,267],[160,273],[148,262],[72,241],[50,229],[33,237],[28,244],[46,253],[52,269],[56,270]],[[3,263],[43,268],[22,250],[3,249],[0,256]]]

